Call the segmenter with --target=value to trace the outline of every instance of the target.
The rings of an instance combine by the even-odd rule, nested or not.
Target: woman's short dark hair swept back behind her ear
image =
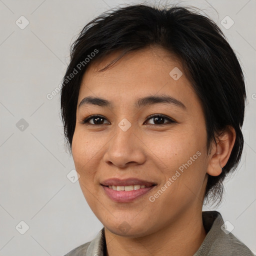
[[[220,202],[222,181],[237,167],[243,148],[244,77],[220,28],[191,7],[128,5],[106,11],[84,26],[71,45],[70,63],[61,88],[61,115],[69,150],[81,79],[88,65],[120,51],[109,64],[112,65],[128,52],[154,45],[178,57],[200,98],[206,122],[207,151],[212,141],[216,143],[217,134],[228,126],[235,130],[234,146],[226,165],[220,175],[209,175],[206,184],[204,199]]]

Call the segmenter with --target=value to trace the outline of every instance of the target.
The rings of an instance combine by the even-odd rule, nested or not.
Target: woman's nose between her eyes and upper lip
[[[126,131],[117,126],[114,132],[107,143],[103,161],[119,168],[142,164],[146,159],[145,147],[132,125]]]

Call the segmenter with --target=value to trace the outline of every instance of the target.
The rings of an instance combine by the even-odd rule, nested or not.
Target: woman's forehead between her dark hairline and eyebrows
[[[167,94],[180,101],[198,101],[181,62],[160,47],[147,47],[122,56],[115,52],[92,62],[82,77],[77,105],[85,96],[112,98],[115,103],[134,101],[147,94]],[[189,102],[188,102],[189,103]]]

